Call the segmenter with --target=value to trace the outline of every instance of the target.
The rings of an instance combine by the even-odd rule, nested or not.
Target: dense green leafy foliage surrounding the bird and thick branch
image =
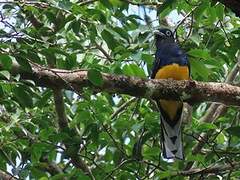
[[[186,159],[169,163],[160,158],[160,121],[153,102],[94,94],[89,88],[81,94],[65,90],[69,129],[64,130],[59,128],[52,90],[11,74],[18,62],[24,71],[31,71],[31,64],[87,69],[96,86],[102,85],[100,72],[147,78],[154,60],[153,31],[170,26],[166,17],[175,19],[171,12],[176,10],[180,17],[187,15],[172,29],[177,28],[178,41],[189,55],[192,78],[223,82],[236,63],[239,18],[215,1],[146,2],[139,6],[133,4],[140,1],[120,0],[0,4],[2,171],[20,179],[89,179],[72,163],[75,153],[96,179],[184,179],[176,174],[190,161],[205,168],[240,160],[236,107],[228,107],[210,124],[199,122],[209,103],[194,105],[192,122],[184,127]],[[196,137],[209,131],[201,153],[192,155]],[[222,171],[215,178],[234,179],[239,174],[239,170]]]

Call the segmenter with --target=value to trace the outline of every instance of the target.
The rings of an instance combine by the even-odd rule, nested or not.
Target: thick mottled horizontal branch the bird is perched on
[[[136,77],[102,73],[103,85],[96,87],[87,78],[87,70],[67,71],[33,66],[32,72],[15,67],[24,79],[50,88],[65,88],[81,92],[83,87],[92,87],[95,92],[128,94],[148,99],[172,99],[179,97],[189,103],[212,101],[227,105],[240,105],[240,87],[226,83],[197,81],[150,80]]]

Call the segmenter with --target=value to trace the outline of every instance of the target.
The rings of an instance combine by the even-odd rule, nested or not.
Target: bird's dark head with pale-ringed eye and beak
[[[174,42],[174,36],[170,29],[161,28],[158,31],[154,32],[156,47],[158,47],[162,43],[172,43]]]

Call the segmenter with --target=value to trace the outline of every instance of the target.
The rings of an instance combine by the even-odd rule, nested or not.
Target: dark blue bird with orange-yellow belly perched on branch
[[[190,79],[188,57],[180,48],[173,32],[161,28],[155,33],[155,60],[151,79]],[[183,102],[179,100],[157,100],[161,121],[162,157],[165,159],[184,159],[181,134]]]

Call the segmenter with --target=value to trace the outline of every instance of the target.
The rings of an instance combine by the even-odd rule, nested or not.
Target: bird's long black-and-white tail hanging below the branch
[[[161,117],[163,158],[184,159],[181,134],[181,115],[174,124],[169,124],[169,121],[167,121],[163,115]]]

